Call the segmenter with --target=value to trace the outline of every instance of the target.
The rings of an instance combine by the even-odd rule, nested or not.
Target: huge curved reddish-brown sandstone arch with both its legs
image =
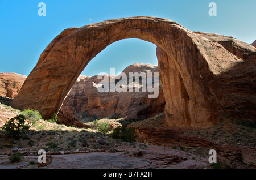
[[[11,105],[38,109],[43,118],[51,118],[89,61],[109,44],[125,38],[158,46],[167,126],[211,126],[230,100],[223,96],[220,88],[225,80],[221,82],[219,77],[232,67],[241,69],[238,65],[247,67],[250,63],[168,19],[141,16],[105,20],[61,32],[40,55]],[[255,48],[251,51],[255,55]],[[224,79],[229,78],[225,74]]]

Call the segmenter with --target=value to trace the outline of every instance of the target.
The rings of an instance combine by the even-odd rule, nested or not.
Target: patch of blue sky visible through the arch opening
[[[113,42],[88,63],[81,75],[110,74],[110,68],[117,74],[135,63],[158,65],[156,45],[137,38]]]

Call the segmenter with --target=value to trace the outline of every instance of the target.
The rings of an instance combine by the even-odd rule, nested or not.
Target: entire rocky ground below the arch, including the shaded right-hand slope
[[[6,112],[6,115],[13,117],[19,114],[18,110],[0,104],[1,111]],[[9,114],[8,114],[9,113]],[[130,126],[140,126],[141,128],[163,127],[164,114],[161,113],[155,117],[132,123]],[[232,166],[220,163],[210,165],[208,162],[208,151],[212,146],[205,146],[204,143],[197,142],[190,146],[193,142],[193,134],[197,137],[209,138],[219,137],[221,142],[223,137],[219,134],[228,134],[228,128],[232,133],[240,132],[240,144],[236,143],[236,147],[240,145],[250,145],[251,148],[255,144],[255,128],[249,127],[231,127],[228,123],[220,123],[220,125],[207,129],[183,132],[183,138],[180,138],[182,143],[170,143],[170,139],[164,139],[165,142],[159,142],[156,131],[151,131],[151,137],[145,138],[142,130],[137,128],[136,131],[141,133],[137,142],[124,142],[121,139],[113,139],[110,134],[112,131],[104,134],[96,128],[96,123],[106,122],[112,127],[121,126],[124,119],[100,119],[98,121],[86,123],[89,128],[76,128],[51,123],[40,119],[36,125],[31,127],[29,132],[26,132],[18,140],[7,138],[1,132],[0,138],[0,168],[230,168]],[[221,131],[220,126],[223,127]],[[150,128],[148,128],[150,130]],[[216,130],[219,130],[216,132]],[[168,138],[170,134],[167,131],[161,131]],[[230,132],[231,133],[231,132]],[[190,142],[185,142],[185,138],[190,136]],[[154,137],[155,142],[152,143]],[[225,136],[224,136],[225,137]],[[242,138],[245,137],[245,138]],[[236,137],[235,137],[236,138]],[[235,138],[224,138],[228,140],[225,144],[234,143]],[[171,137],[172,139],[172,137]],[[200,139],[200,138],[199,138]],[[172,139],[174,142],[175,138]],[[197,139],[198,140],[198,139]],[[210,139],[208,139],[210,140]],[[187,143],[187,145],[186,145]],[[151,145],[150,145],[151,144]],[[137,147],[142,151],[142,155],[137,151]],[[250,149],[251,149],[250,148]],[[52,161],[47,166],[40,166],[38,163],[38,151],[45,149],[47,156],[52,157]],[[136,150],[137,149],[137,150]],[[22,161],[11,163],[9,157],[15,153],[22,155]],[[231,152],[229,152],[232,154]],[[139,156],[140,155],[140,156]],[[230,155],[231,156],[231,155]],[[251,158],[251,157],[248,157]],[[252,157],[253,158],[253,157]],[[254,157],[255,161],[255,157]],[[253,168],[251,164],[236,161],[233,168]]]

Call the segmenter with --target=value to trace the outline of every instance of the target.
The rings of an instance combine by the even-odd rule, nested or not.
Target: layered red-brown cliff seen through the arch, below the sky
[[[127,86],[129,86],[129,72],[151,72],[158,73],[158,66],[137,63],[125,68],[122,71],[127,76]],[[117,78],[113,75],[105,75],[110,82],[110,78]],[[147,77],[148,78],[148,77]],[[60,109],[61,114],[69,115],[69,112],[81,115],[76,117],[83,119],[86,115],[93,115],[97,119],[105,118],[110,115],[118,114],[122,118],[147,118],[156,113],[164,111],[164,96],[162,85],[159,83],[159,95],[157,98],[148,98],[150,92],[142,92],[142,83],[139,92],[99,92],[98,85],[102,81],[98,76],[80,75],[77,82],[73,85],[68,96]],[[154,76],[152,76],[154,80]],[[116,82],[116,80],[115,80]],[[116,84],[116,83],[115,83]],[[83,116],[84,114],[85,116]]]

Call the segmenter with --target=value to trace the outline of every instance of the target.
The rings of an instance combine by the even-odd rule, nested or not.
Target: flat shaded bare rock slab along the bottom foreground
[[[134,145],[139,146],[139,143]],[[134,155],[134,147],[125,144],[115,148],[115,152],[91,151],[52,155],[52,162],[47,166],[38,164],[39,156],[24,156],[21,162],[15,163],[9,161],[9,156],[2,156],[0,157],[0,168],[212,168],[208,157],[155,145],[147,145],[141,156]]]

